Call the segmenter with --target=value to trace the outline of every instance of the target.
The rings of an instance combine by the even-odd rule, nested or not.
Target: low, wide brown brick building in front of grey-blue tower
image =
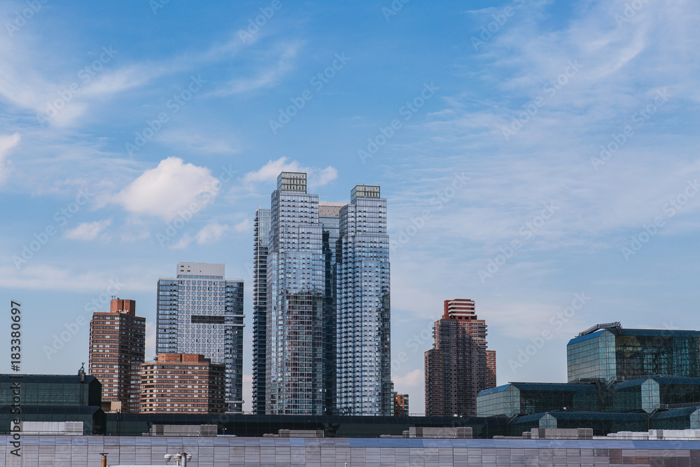
[[[201,354],[159,354],[139,365],[141,412],[224,412],[225,365]]]

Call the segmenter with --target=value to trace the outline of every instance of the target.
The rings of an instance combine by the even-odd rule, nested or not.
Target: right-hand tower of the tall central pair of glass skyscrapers
[[[389,239],[379,186],[355,186],[339,216],[337,410],[390,415]]]

